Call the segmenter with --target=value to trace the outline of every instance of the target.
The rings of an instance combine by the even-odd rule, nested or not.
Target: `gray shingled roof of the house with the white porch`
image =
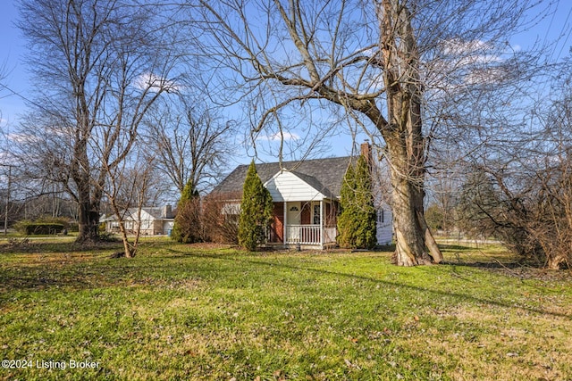
[[[349,163],[356,158],[351,156],[328,159],[313,159],[304,162],[282,162],[282,169],[292,173],[315,187],[324,195],[340,196],[341,181],[348,169]],[[213,193],[242,192],[244,179],[247,176],[248,165],[240,165],[229,176],[214,187]],[[257,173],[263,183],[280,171],[278,162],[258,163]]]

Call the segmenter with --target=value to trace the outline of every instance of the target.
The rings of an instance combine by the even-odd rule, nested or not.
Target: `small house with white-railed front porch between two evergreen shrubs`
[[[362,145],[362,154],[371,157],[368,144]],[[258,176],[273,199],[268,244],[305,248],[335,246],[341,183],[352,162],[356,162],[356,157],[282,162],[282,166],[278,162],[257,164]],[[211,193],[224,200],[223,215],[240,213],[240,194],[247,170],[248,165],[240,165]],[[225,195],[229,196],[225,198]],[[391,211],[383,203],[379,203],[377,221],[378,243],[391,243]]]

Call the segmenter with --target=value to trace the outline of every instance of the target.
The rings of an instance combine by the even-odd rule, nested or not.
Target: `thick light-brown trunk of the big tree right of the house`
[[[414,266],[442,261],[442,253],[424,217],[426,147],[421,117],[423,92],[416,37],[411,26],[412,15],[406,6],[391,0],[378,4],[377,12],[382,31],[379,60],[384,69],[388,120],[375,124],[387,144],[391,165],[397,240],[394,262],[400,266]]]

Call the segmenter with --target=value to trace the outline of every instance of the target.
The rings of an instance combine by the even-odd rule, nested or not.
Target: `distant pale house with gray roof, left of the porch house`
[[[174,214],[171,205],[163,207],[143,207],[141,208],[140,219],[139,209],[130,208],[125,211],[123,221],[125,229],[134,233],[140,227],[140,234],[143,236],[157,236],[169,234],[174,223]],[[105,231],[117,233],[119,231],[119,221],[116,216],[109,216],[101,219],[105,222]]]

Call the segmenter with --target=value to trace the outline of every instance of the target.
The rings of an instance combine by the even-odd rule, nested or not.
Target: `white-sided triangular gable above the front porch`
[[[275,203],[321,200],[325,197],[307,182],[285,170],[278,172],[273,178],[266,181],[265,187],[272,195],[272,200]]]

